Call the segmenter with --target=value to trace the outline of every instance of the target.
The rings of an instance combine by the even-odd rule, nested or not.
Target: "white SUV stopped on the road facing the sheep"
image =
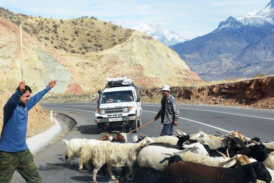
[[[95,113],[97,132],[105,128],[123,125],[134,130],[141,126],[141,103],[134,84],[110,86],[99,92],[98,108]],[[137,132],[137,130],[135,131]]]

